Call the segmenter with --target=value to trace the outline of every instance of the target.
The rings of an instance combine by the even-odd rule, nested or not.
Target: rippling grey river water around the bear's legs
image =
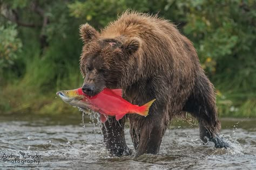
[[[0,115],[0,169],[256,169],[256,119],[221,119],[227,150],[202,145],[197,126],[174,121],[159,154],[137,160],[109,157],[96,119],[82,120],[81,114]],[[129,126],[125,137],[133,148]]]

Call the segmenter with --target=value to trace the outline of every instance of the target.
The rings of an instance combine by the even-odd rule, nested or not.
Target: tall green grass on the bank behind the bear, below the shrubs
[[[58,40],[51,45],[44,55],[39,55],[38,44],[28,43],[29,47],[24,47],[15,65],[0,73],[3,75],[0,82],[1,114],[78,112],[77,108],[60,100],[56,91],[82,86],[79,52],[70,52],[74,51],[73,46],[59,44]],[[33,52],[30,48],[33,48]],[[240,69],[212,77],[218,93],[220,117],[256,117],[256,74],[253,68],[247,68],[246,74],[245,69]]]

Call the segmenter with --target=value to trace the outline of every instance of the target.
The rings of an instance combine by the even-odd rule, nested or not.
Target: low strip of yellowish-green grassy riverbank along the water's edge
[[[57,90],[56,90],[57,91]],[[77,108],[71,107],[60,100],[59,97],[52,92],[51,94],[38,95],[35,93],[21,94],[17,91],[14,95],[4,97],[0,100],[0,114],[12,115],[33,113],[35,115],[62,115],[62,114],[80,114]],[[233,118],[256,118],[256,111],[254,109],[243,107],[235,107],[232,102],[225,99],[219,100],[217,97],[217,107],[219,117],[233,117]],[[251,106],[252,107],[252,106]]]

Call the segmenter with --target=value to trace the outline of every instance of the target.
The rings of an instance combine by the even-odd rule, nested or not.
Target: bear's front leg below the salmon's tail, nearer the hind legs
[[[164,114],[150,113],[140,126],[139,145],[135,158],[144,153],[157,154],[169,120]]]

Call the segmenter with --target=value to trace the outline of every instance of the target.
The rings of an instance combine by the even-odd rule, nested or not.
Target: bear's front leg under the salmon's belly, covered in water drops
[[[116,121],[115,117],[109,117],[105,124],[102,124],[104,143],[111,155],[120,157],[131,154],[125,143],[124,125],[125,117],[119,121]]]

